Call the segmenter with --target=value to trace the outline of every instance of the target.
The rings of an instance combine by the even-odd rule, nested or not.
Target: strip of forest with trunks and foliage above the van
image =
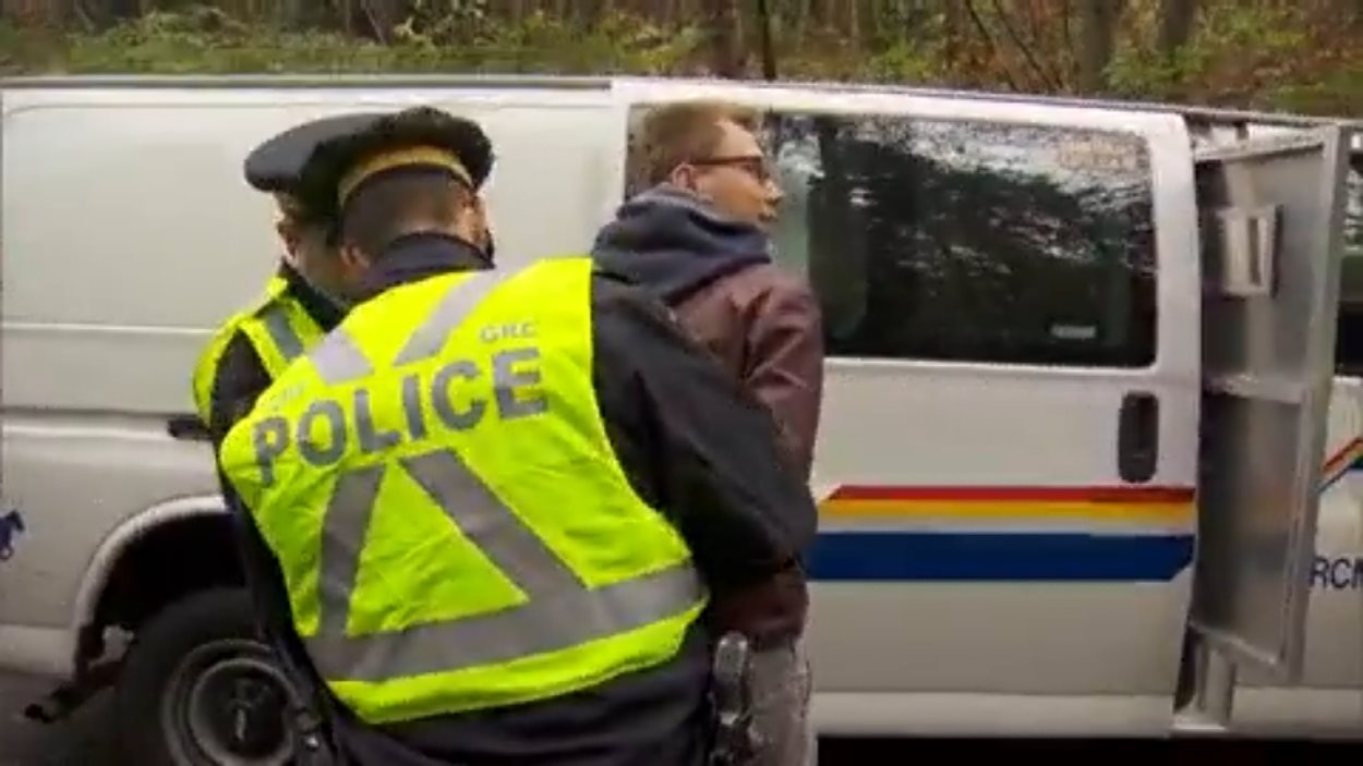
[[[0,0],[0,74],[893,82],[1363,117],[1363,0]]]

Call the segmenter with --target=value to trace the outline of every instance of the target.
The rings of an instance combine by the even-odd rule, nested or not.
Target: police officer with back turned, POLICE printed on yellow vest
[[[361,763],[703,762],[709,594],[814,534],[766,409],[587,256],[491,269],[480,127],[323,142],[360,303],[226,436]]]

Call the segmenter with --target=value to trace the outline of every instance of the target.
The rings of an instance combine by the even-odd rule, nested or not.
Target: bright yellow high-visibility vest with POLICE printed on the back
[[[395,288],[228,436],[297,631],[363,720],[589,688],[671,660],[703,607],[611,450],[590,318],[586,259]]]

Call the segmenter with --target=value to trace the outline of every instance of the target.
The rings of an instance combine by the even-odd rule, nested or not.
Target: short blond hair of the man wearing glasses
[[[762,112],[713,99],[654,106],[632,131],[634,181],[650,187],[661,184],[677,165],[709,158],[724,138],[722,123],[733,123],[755,134],[762,127]]]

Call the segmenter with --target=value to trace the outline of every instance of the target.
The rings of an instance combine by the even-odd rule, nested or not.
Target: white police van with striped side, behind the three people
[[[285,755],[234,702],[277,676],[185,425],[278,252],[255,143],[474,117],[514,262],[583,251],[631,117],[695,95],[770,110],[781,258],[826,313],[822,732],[1363,735],[1349,125],[656,79],[3,82],[0,668],[64,681],[33,714],[112,681],[129,761]]]

